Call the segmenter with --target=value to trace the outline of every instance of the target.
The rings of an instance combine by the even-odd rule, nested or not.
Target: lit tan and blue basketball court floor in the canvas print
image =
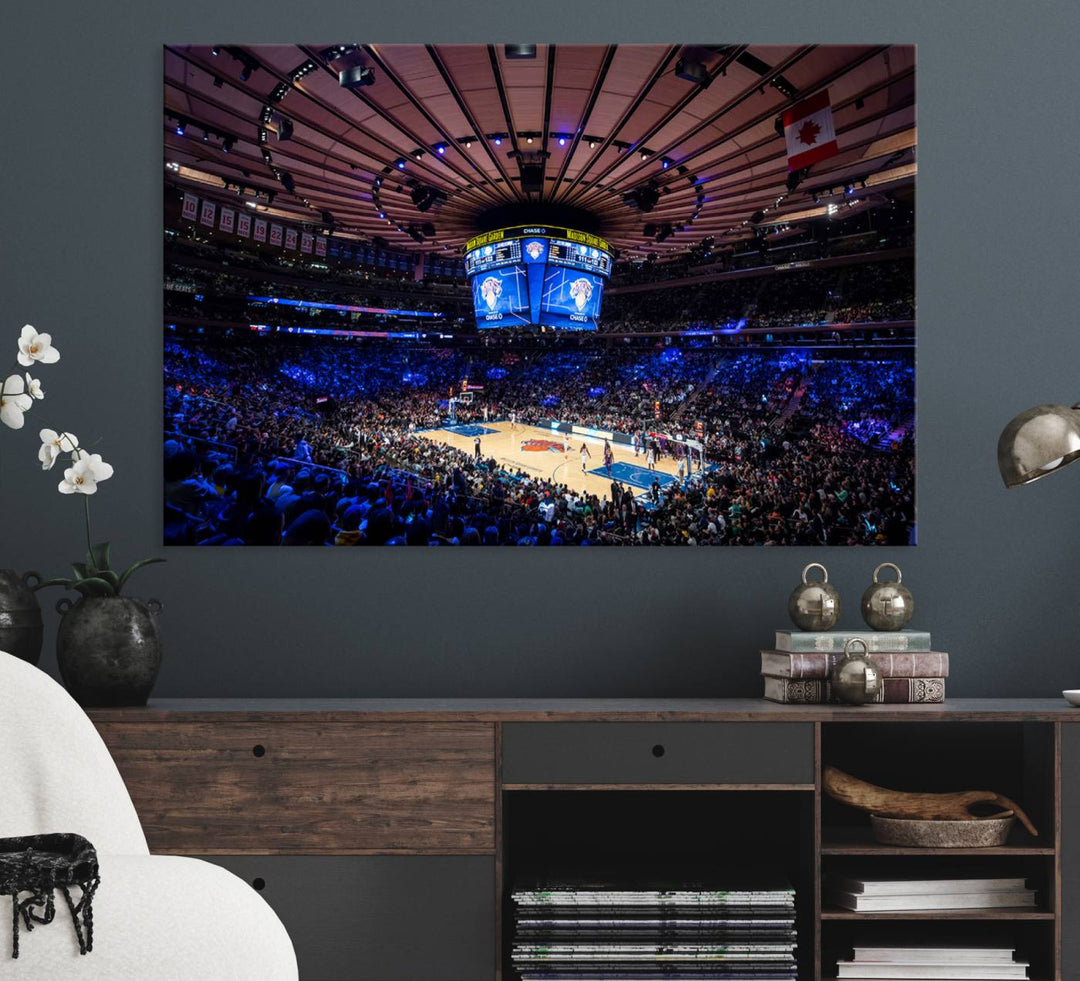
[[[604,441],[592,436],[565,435],[553,432],[550,429],[540,429],[535,426],[517,425],[515,430],[511,430],[510,424],[484,422],[474,424],[485,429],[494,429],[495,432],[481,436],[481,453],[485,459],[494,458],[500,466],[508,469],[521,469],[538,478],[557,481],[566,484],[571,490],[588,492],[600,498],[611,496],[611,479],[604,472]],[[447,443],[463,449],[470,455],[473,453],[472,435],[464,435],[451,432],[447,429],[432,429],[421,433],[426,439],[440,443]],[[569,452],[564,453],[563,441],[567,441]],[[589,447],[591,457],[585,461],[588,470],[598,470],[599,473],[581,472],[581,444]],[[527,446],[535,448],[525,448]],[[616,478],[622,471],[624,480],[629,483],[635,497],[644,494],[652,478],[647,473],[645,454],[642,453],[636,458],[632,446],[619,443],[611,443],[615,453],[616,465],[622,463],[624,467],[616,469]],[[627,473],[625,467],[636,467]],[[678,467],[671,456],[662,456],[657,460],[657,472],[662,474],[661,485],[669,483],[670,478],[677,474]],[[663,475],[667,475],[667,478]]]

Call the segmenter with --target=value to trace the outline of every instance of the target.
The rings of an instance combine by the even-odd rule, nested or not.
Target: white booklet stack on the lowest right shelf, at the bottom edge
[[[1001,946],[856,946],[854,957],[837,965],[838,977],[848,981],[1022,979],[1028,967],[1013,948]]]

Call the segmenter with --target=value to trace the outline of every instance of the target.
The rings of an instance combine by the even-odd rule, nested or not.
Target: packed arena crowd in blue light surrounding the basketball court
[[[906,543],[910,360],[280,335],[165,345],[165,528],[191,545]],[[492,418],[677,436],[711,469],[584,495],[424,436],[463,378]],[[654,407],[660,403],[660,418]],[[864,427],[891,427],[883,451]],[[672,452],[679,444],[671,440]]]

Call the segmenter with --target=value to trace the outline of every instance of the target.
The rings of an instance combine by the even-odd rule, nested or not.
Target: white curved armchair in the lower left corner
[[[82,709],[37,668],[0,651],[0,837],[53,832],[97,848],[94,950],[79,954],[62,903],[52,924],[21,932],[12,958],[11,901],[2,897],[0,981],[296,981],[293,944],[259,895],[208,862],[151,856]]]

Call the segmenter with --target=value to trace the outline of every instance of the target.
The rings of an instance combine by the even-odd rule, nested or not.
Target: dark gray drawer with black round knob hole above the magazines
[[[813,785],[811,723],[508,723],[504,784]]]

